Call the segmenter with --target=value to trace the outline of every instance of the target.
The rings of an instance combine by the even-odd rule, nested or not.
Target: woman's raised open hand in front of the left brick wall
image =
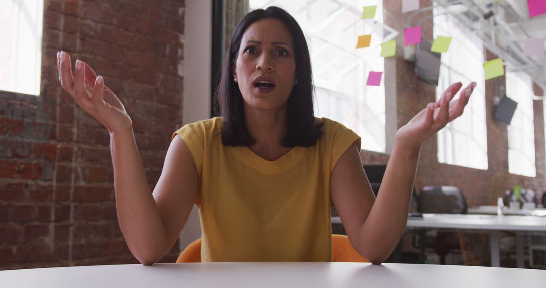
[[[102,123],[110,134],[133,129],[133,121],[120,99],[104,86],[103,77],[97,77],[87,63],[76,60],[73,75],[70,55],[61,51],[57,52],[57,68],[63,89],[82,109]]]

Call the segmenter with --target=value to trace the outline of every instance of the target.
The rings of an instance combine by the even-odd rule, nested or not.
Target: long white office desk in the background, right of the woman
[[[341,223],[339,217],[332,217],[332,223]],[[423,218],[410,217],[408,228],[467,229],[489,232],[491,244],[491,266],[500,267],[500,231],[516,232],[516,263],[523,268],[524,232],[546,231],[546,217],[475,214],[423,214]]]

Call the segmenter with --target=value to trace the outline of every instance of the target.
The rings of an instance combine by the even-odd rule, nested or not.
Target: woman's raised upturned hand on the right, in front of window
[[[476,82],[472,82],[463,89],[459,94],[459,99],[450,103],[461,87],[461,82],[452,84],[436,103],[429,103],[425,109],[417,113],[410,122],[397,131],[396,144],[412,151],[419,151],[421,144],[426,139],[444,128],[447,123],[461,116],[470,94],[476,87]]]

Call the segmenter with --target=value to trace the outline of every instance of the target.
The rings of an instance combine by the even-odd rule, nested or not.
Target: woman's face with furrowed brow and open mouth
[[[284,23],[264,18],[248,26],[233,68],[245,106],[260,110],[283,107],[294,87],[295,73],[292,34]]]

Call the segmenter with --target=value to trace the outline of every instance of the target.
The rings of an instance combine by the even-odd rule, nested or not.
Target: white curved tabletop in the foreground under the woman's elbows
[[[544,287],[546,271],[347,262],[181,263],[0,271],[2,287]]]

